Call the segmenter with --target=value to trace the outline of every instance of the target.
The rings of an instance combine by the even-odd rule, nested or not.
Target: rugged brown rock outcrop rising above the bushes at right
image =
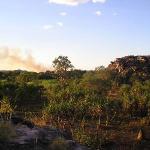
[[[150,79],[150,55],[117,58],[108,68],[124,76],[135,74],[143,80]]]

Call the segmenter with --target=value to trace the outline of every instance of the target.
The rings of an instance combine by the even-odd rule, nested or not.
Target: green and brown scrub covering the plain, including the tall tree
[[[92,71],[72,70],[68,57],[63,56],[53,63],[52,72],[0,72],[1,103],[7,99],[9,111],[22,112],[38,125],[51,124],[68,131],[76,141],[93,150],[112,143],[122,144],[123,140],[130,143],[141,128],[148,129],[150,72],[142,74],[143,68],[139,70],[140,63],[144,65],[143,59],[138,61],[137,70],[126,71],[123,64],[123,73],[112,66]],[[122,66],[121,61],[117,63]],[[141,78],[138,72],[143,75]],[[61,146],[57,147],[57,143]],[[61,147],[67,150],[62,139],[52,144],[52,149]]]

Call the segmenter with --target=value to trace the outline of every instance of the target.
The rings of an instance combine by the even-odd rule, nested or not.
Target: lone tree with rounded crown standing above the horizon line
[[[71,70],[73,65],[67,56],[58,56],[53,61],[53,67],[60,79],[66,79],[67,71]]]

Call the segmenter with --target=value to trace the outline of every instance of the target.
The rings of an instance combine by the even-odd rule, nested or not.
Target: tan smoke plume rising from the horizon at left
[[[0,48],[0,69],[24,69],[35,72],[47,70],[43,65],[36,63],[31,53],[23,55],[20,49],[10,49],[6,47]]]

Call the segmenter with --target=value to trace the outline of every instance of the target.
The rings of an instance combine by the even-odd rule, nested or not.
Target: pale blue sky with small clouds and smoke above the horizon
[[[150,0],[0,0],[0,69],[76,69],[150,54]]]

